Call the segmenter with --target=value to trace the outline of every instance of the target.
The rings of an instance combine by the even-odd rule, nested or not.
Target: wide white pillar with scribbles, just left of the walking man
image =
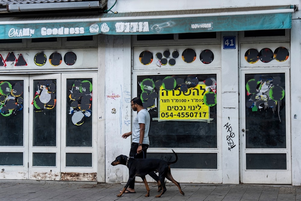
[[[105,97],[100,101],[105,100],[105,182],[120,183],[128,168],[111,162],[129,155],[131,146],[130,137],[121,137],[131,131],[131,36],[105,36],[104,55]]]

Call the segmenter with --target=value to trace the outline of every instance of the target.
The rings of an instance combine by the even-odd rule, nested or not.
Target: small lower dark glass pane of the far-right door
[[[246,154],[247,170],[286,170],[285,153]]]

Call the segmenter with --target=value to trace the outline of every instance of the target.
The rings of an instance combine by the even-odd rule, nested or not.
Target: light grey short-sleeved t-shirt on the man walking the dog
[[[140,126],[139,124],[145,124],[144,130],[144,138],[142,144],[150,144],[150,140],[148,138],[148,132],[150,130],[150,114],[146,109],[142,109],[137,113],[137,116],[134,119],[132,124],[132,142],[139,143],[140,138]]]

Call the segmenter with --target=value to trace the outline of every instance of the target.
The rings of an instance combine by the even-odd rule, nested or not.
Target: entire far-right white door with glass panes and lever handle
[[[240,71],[241,182],[291,184],[287,70]]]

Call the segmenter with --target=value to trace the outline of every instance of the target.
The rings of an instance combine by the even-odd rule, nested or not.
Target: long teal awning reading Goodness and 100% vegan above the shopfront
[[[293,9],[292,9],[293,10]],[[26,20],[26,18],[0,20],[0,38],[43,38],[88,36],[96,34],[133,35],[133,34],[170,34],[170,33],[198,33],[210,31],[240,31],[240,30],[268,30],[290,29],[291,13],[272,13],[256,15],[242,14],[230,16],[206,17],[175,17],[160,18],[154,16],[137,16],[137,19],[126,19],[130,14],[103,14],[94,19],[50,19]],[[163,17],[163,16],[162,16]],[[123,19],[124,18],[124,19]],[[269,23],[262,24],[261,21]],[[7,23],[9,22],[9,24]],[[42,22],[42,23],[41,23]],[[15,24],[16,23],[16,24]],[[20,24],[17,24],[20,23]],[[213,26],[214,25],[214,26]],[[229,44],[230,41],[229,41]],[[231,48],[233,48],[231,46]]]

